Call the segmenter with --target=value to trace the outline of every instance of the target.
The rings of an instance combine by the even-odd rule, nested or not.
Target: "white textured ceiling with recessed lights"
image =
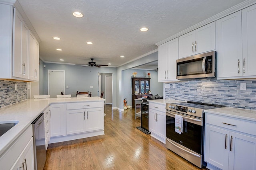
[[[94,58],[96,64],[111,66],[153,51],[155,43],[242,1],[18,0],[40,37],[44,61],[87,64]],[[74,17],[74,11],[84,17]],[[141,27],[148,31],[141,32]]]

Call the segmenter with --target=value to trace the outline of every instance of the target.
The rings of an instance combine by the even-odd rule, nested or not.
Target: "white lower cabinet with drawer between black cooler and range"
[[[149,102],[148,129],[151,136],[165,143],[166,138],[166,113],[165,105]]]

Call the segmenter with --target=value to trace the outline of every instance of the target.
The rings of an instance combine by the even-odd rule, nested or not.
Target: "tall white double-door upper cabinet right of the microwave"
[[[256,5],[217,21],[218,79],[256,77]]]

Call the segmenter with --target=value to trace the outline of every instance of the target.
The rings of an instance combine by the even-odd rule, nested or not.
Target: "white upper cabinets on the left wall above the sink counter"
[[[39,43],[35,38],[30,42],[30,30],[21,14],[4,2],[0,3],[0,35],[0,79],[38,81]]]

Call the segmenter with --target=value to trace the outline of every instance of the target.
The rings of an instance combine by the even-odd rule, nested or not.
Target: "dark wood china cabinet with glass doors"
[[[134,99],[152,96],[152,94],[148,94],[149,90],[150,78],[132,77],[132,107],[135,106]],[[138,94],[135,92],[138,92]],[[137,108],[139,108],[139,106]]]

